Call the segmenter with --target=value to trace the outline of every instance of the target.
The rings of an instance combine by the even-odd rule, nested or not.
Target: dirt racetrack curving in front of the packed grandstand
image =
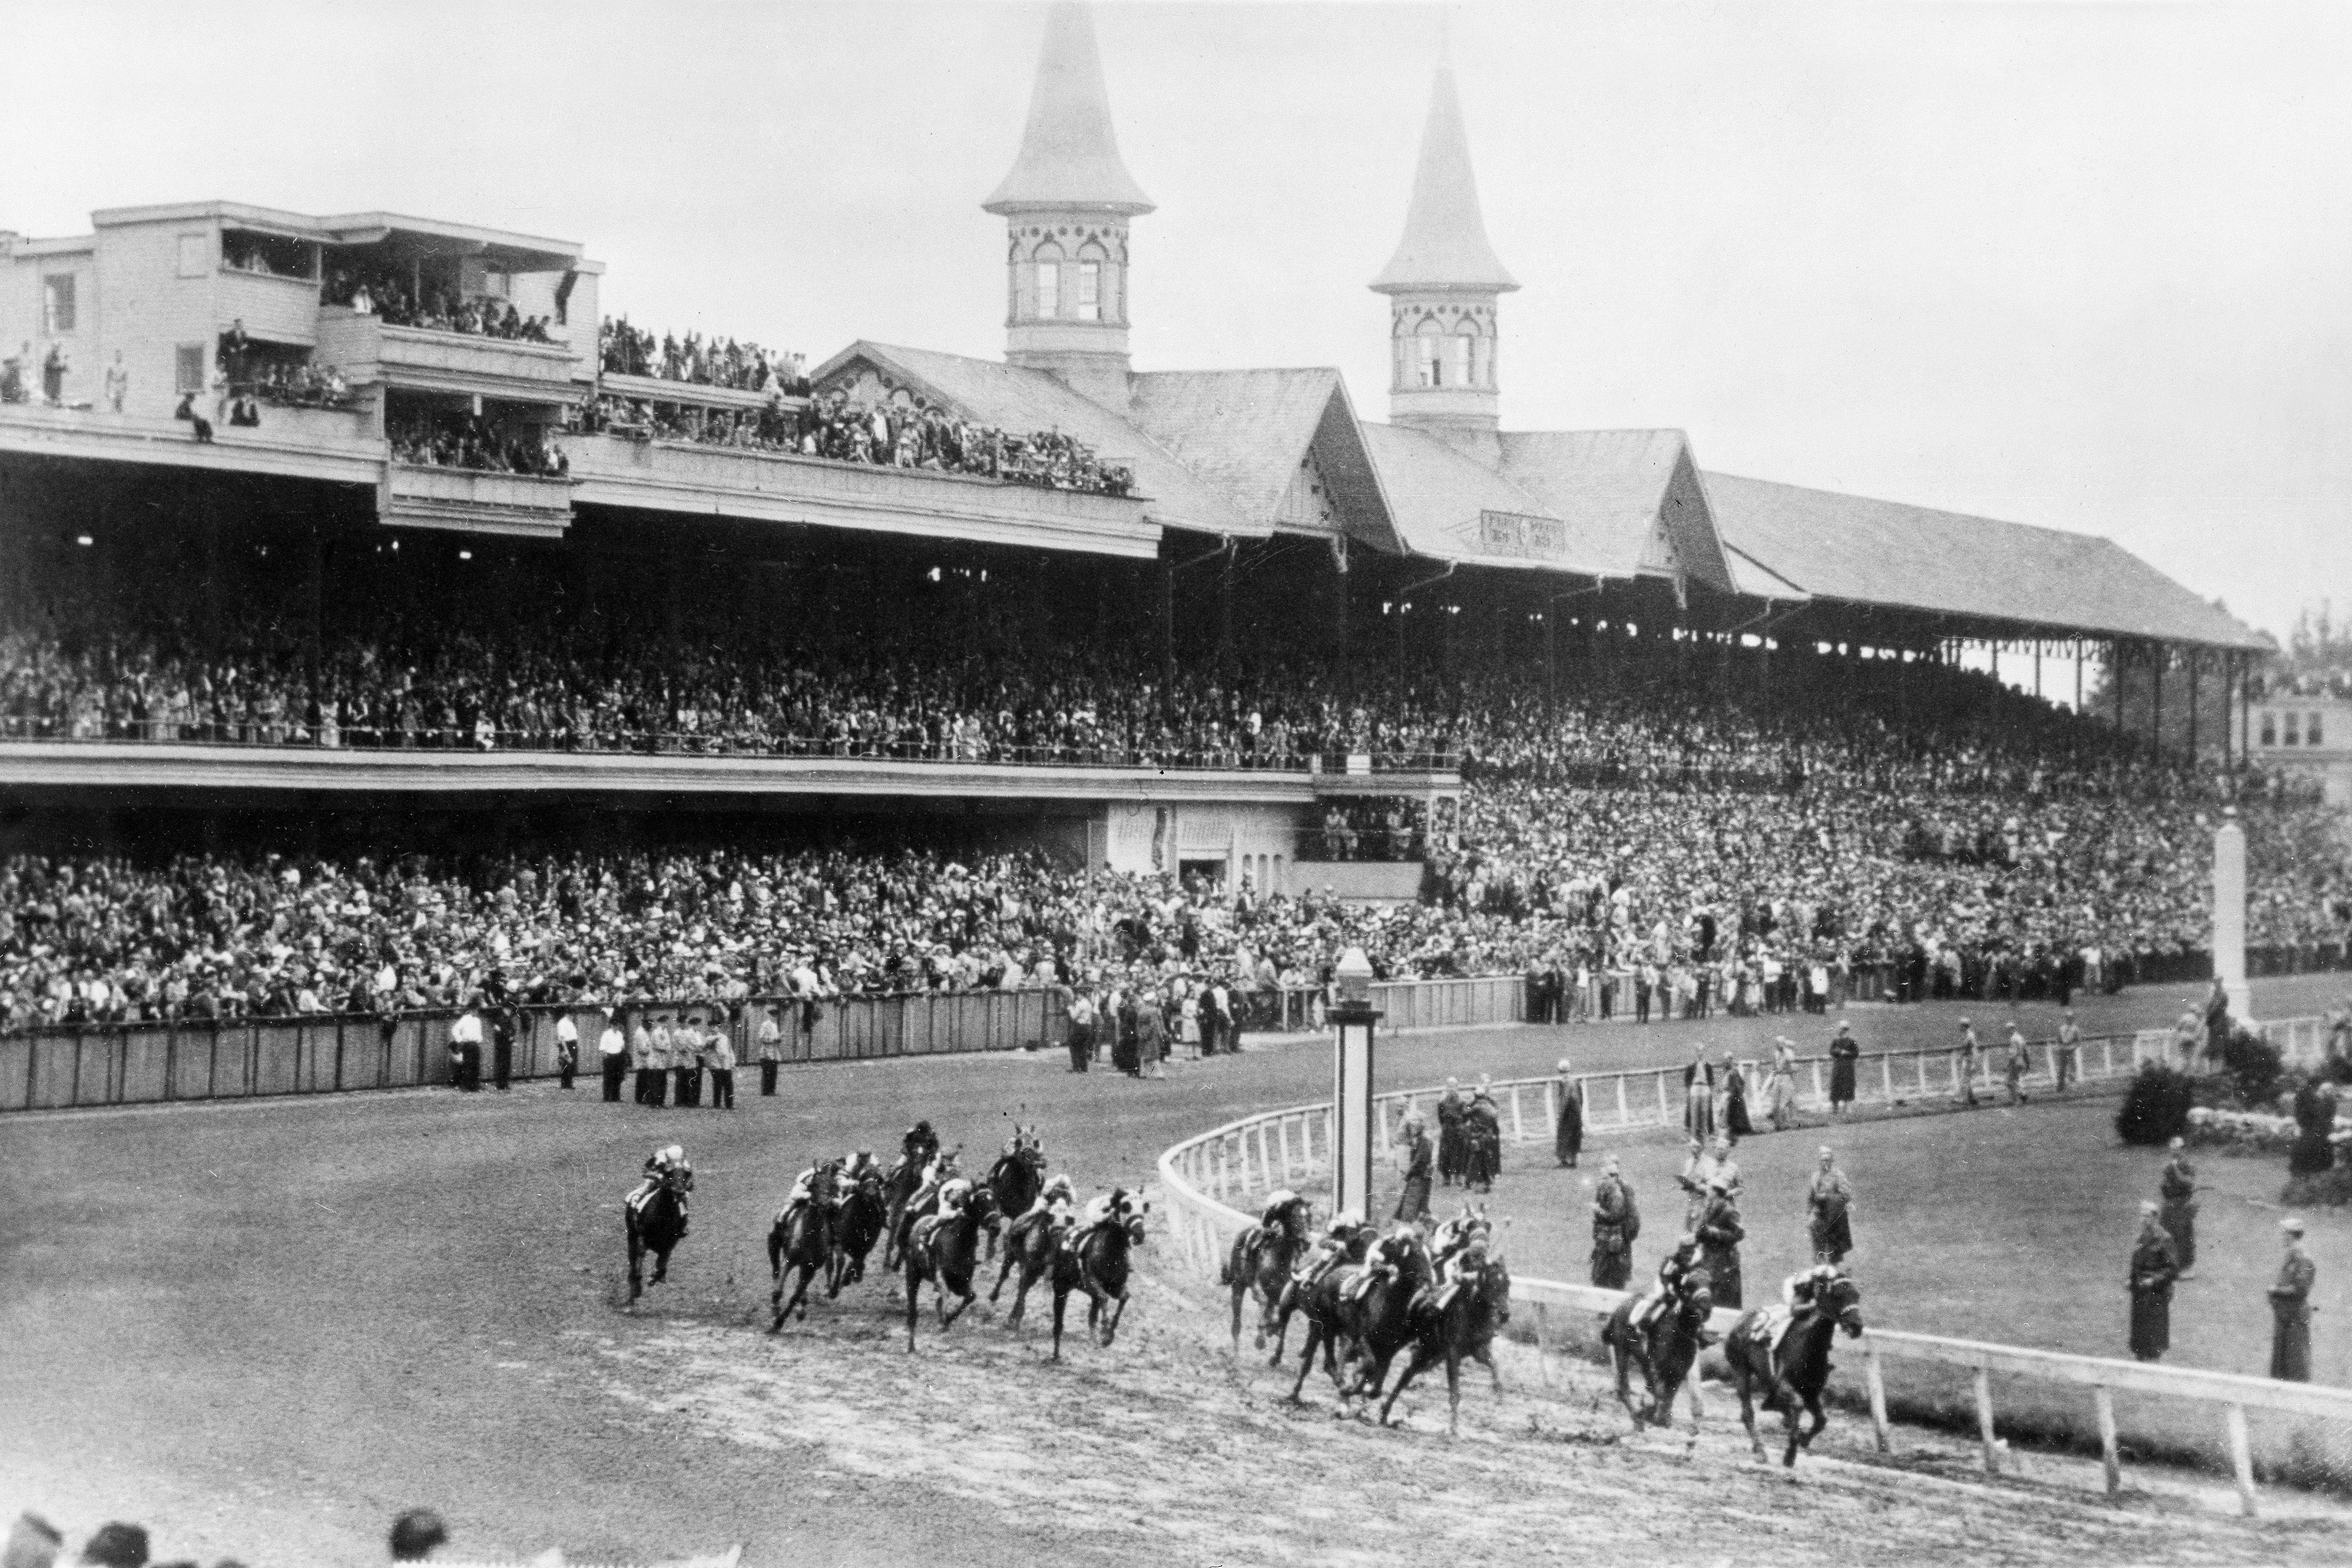
[[[2343,987],[2274,983],[2270,1013]],[[2086,1011],[2159,1020],[2171,992]],[[1797,1020],[1759,1020],[1764,1032]],[[1950,1009],[1856,1013],[1872,1044]],[[1752,1025],[1498,1030],[1383,1046],[1383,1086],[1686,1060]],[[1790,1030],[1795,1032],[1795,1030]],[[1811,1041],[1820,1030],[1806,1020]],[[1505,1359],[1510,1392],[1442,1382],[1404,1432],[1329,1418],[1310,1380],[1237,1375],[1200,1281],[1145,1274],[1112,1349],[1042,1361],[967,1316],[908,1356],[884,1284],[767,1338],[764,1225],[793,1171],[889,1150],[931,1117],[967,1150],[1037,1121],[1082,1187],[1150,1180],[1176,1138],[1327,1084],[1312,1048],[1188,1065],[1167,1084],[1044,1058],[837,1065],[724,1112],[607,1107],[593,1088],[447,1091],[64,1112],[0,1126],[0,1509],[85,1533],[139,1519],[160,1556],[381,1561],[393,1512],[433,1505],[468,1559],[562,1547],[652,1561],[746,1542],[748,1563],[1395,1561],[2343,1561],[2352,1528],[2272,1493],[2241,1523],[2192,1490],[2124,1509],[1980,1486],[1936,1441],[1903,1469],[1832,1427],[1790,1481],[1722,1425],[1623,1441],[1597,1382]],[[748,1077],[748,1074],[746,1074]],[[673,1284],[621,1309],[619,1194],[682,1140],[701,1190]],[[764,1326],[764,1316],[760,1316]],[[1545,1378],[1562,1380],[1545,1387]],[[1573,1378],[1573,1382],[1569,1382]],[[1736,1427],[1733,1427],[1736,1429]]]

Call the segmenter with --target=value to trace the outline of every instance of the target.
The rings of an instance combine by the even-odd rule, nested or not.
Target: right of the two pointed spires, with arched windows
[[[1439,61],[1404,240],[1371,280],[1376,294],[1388,294],[1388,416],[1395,423],[1444,437],[1486,463],[1501,458],[1496,296],[1517,287],[1486,242],[1454,66]]]

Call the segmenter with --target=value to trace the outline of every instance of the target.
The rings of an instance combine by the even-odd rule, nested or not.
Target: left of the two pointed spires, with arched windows
[[[1084,5],[1056,5],[1021,155],[983,212],[1004,219],[1004,360],[1127,407],[1127,219],[1152,209],[1110,129]]]

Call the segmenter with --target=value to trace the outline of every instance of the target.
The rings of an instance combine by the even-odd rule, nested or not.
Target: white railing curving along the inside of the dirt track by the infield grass
[[[2284,1020],[2265,1025],[2265,1034],[2279,1032],[2300,1037],[2305,1025],[2319,1020]],[[2324,1025],[2319,1039],[2324,1041]],[[2039,1056],[2039,1084],[2056,1077],[2056,1060],[2044,1051],[2056,1041],[2034,1041]],[[2122,1079],[2138,1072],[2143,1060],[2169,1060],[2173,1051],[2169,1030],[2143,1030],[2140,1034],[2117,1034],[2084,1039],[2079,1044],[2084,1079]],[[1877,1063],[1877,1091],[1884,1098],[1896,1093],[1910,1098],[1952,1098],[1959,1093],[1959,1067],[1950,1063],[1929,1067],[1933,1058],[1957,1058],[1957,1051],[1889,1051],[1863,1058],[1858,1067]],[[1806,1058],[1799,1067],[1813,1067],[1811,1095],[1806,1074],[1799,1074],[1799,1103],[1825,1103],[1820,1060]],[[1896,1063],[1907,1063],[1898,1070]],[[1752,1063],[1743,1072],[1755,1079]],[[1990,1072],[1987,1072],[1990,1077]],[[1870,1084],[1867,1070],[1856,1072],[1858,1098]],[[1632,1084],[1642,1084],[1632,1091]],[[1585,1133],[1618,1133],[1642,1126],[1661,1126],[1682,1119],[1682,1070],[1658,1072],[1606,1072],[1581,1077],[1585,1088]],[[1595,1086],[1602,1086],[1595,1093]],[[1534,1143],[1552,1135],[1557,1114],[1557,1079],[1515,1079],[1494,1084],[1496,1110],[1503,1119],[1503,1138]],[[1672,1091],[1672,1093],[1670,1093]],[[1376,1147],[1390,1152],[1392,1128],[1406,1107],[1435,1100],[1442,1088],[1414,1088],[1385,1093],[1374,1100],[1378,1114]],[[1329,1175],[1331,1161],[1331,1107],[1294,1105],[1289,1110],[1258,1112],[1188,1138],[1160,1154],[1160,1187],[1167,1206],[1169,1232],[1176,1251],[1202,1272],[1214,1274],[1223,1262],[1232,1237],[1254,1225],[1247,1208],[1275,1187]],[[1623,1293],[1599,1286],[1578,1286],[1555,1279],[1515,1279],[1512,1298],[1534,1307],[1538,1352],[1550,1349],[1552,1309],[1588,1312],[1606,1316],[1623,1300]],[[1715,1314],[1715,1328],[1729,1331],[1738,1312],[1724,1307]],[[2100,1458],[2105,1460],[2107,1493],[2122,1486],[2122,1458],[2117,1448],[2114,1394],[2154,1399],[2178,1399],[2201,1406],[2218,1406],[2223,1439],[2230,1450],[2230,1469],[2237,1479],[2239,1507],[2253,1514],[2253,1446],[2246,1434],[2246,1410],[2270,1410],[2303,1420],[2352,1422],[2352,1389],[2314,1387],[2305,1382],[2274,1382],[2270,1378],[2241,1378],[2234,1373],[2209,1373],[2185,1366],[2154,1366],[2138,1361],[2110,1361],[2105,1356],[2072,1356],[2016,1345],[1983,1345],[1976,1340],[1947,1340],[1924,1333],[1900,1333],[1872,1328],[1863,1333],[1863,1380],[1870,1399],[1870,1422],[1882,1453],[1891,1450],[1891,1422],[1886,1415],[1886,1361],[1917,1361],[1929,1366],[1966,1368],[1973,1380],[1978,1432],[1985,1448],[1985,1469],[1997,1469],[1992,1378],[2018,1378],[2025,1382],[2091,1389],[2098,1422]],[[1689,1385],[1691,1408],[1698,1410],[1698,1380]]]

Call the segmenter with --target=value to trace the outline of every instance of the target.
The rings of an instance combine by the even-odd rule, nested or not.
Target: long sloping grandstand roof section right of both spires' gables
[[[1813,599],[1940,614],[1966,623],[1955,635],[2272,646],[2107,538],[1717,473],[1705,489],[1736,557]]]

